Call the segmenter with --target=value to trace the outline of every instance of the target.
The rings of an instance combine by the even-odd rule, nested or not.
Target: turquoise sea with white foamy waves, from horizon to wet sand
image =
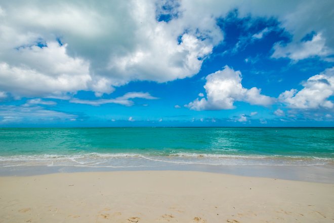
[[[324,165],[334,128],[3,128],[0,167]]]

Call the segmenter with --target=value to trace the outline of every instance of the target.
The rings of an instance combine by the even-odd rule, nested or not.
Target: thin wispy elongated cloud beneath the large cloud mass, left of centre
[[[149,93],[143,93],[143,92],[129,92],[124,94],[123,96],[117,97],[117,98],[112,98],[112,99],[98,99],[98,100],[81,100],[78,98],[72,98],[69,100],[71,103],[76,103],[76,104],[90,104],[90,105],[95,105],[99,106],[101,104],[109,104],[109,103],[114,103],[114,104],[121,104],[121,105],[126,105],[126,106],[132,106],[134,102],[129,99],[133,98],[144,98],[144,99],[158,99],[156,97],[153,97]]]

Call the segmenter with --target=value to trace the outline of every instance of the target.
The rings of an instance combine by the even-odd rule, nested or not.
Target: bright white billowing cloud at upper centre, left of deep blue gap
[[[173,81],[196,74],[203,59],[212,52],[213,46],[207,45],[193,35],[183,34],[181,43],[176,38],[166,39],[164,28],[157,33],[149,32],[146,39],[152,39],[148,49],[138,49],[126,56],[116,55],[108,65],[111,72],[121,73],[122,79],[150,80],[156,82]],[[152,30],[153,32],[153,30]],[[161,35],[161,36],[159,36]],[[160,40],[156,40],[161,38]],[[161,44],[166,48],[160,48]],[[170,45],[170,46],[169,46]],[[128,80],[127,80],[128,79]]]

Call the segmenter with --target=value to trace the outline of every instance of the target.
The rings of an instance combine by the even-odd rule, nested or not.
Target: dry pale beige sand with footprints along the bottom
[[[334,184],[192,171],[0,177],[0,222],[333,222]]]

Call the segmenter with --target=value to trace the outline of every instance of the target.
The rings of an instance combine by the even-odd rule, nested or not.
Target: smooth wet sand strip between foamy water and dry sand
[[[334,183],[332,164],[315,166],[289,165],[166,165],[154,167],[87,167],[87,166],[14,166],[0,168],[0,177],[38,176],[55,173],[94,173],[127,171],[190,171],[245,177],[277,178],[305,182]]]

